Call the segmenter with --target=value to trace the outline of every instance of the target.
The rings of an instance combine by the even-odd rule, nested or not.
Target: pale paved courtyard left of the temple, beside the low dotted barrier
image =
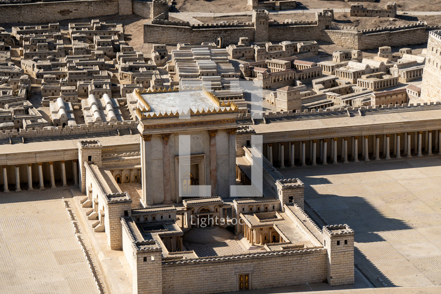
[[[70,191],[0,193],[0,293],[98,293],[62,197]]]

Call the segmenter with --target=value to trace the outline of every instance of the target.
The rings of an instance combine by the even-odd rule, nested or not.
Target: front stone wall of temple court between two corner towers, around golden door
[[[250,273],[250,289],[318,283],[327,278],[326,264],[325,249],[163,262],[163,293],[237,291],[237,276],[240,273]],[[207,289],[206,285],[210,285],[210,288]]]

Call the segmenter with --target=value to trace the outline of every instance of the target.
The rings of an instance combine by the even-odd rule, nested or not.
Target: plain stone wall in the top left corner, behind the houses
[[[119,0],[77,0],[0,5],[0,22],[41,23],[118,14]],[[127,7],[123,5],[122,7]],[[121,8],[122,8],[121,7]],[[129,11],[124,8],[121,14]]]

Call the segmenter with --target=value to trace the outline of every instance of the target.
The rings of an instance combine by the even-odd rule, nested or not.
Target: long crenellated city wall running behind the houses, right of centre
[[[429,31],[441,26],[428,26],[424,22],[403,26],[380,27],[358,31],[354,27],[332,27],[331,14],[319,13],[314,21],[292,21],[269,23],[268,37],[266,30],[254,23],[225,23],[190,25],[188,22],[153,20],[144,25],[144,43],[201,44],[216,42],[221,37],[222,44],[237,44],[240,37],[247,37],[250,42],[269,41],[273,43],[286,40],[304,41],[314,36],[317,41],[326,41],[348,49],[367,50],[382,46],[407,46],[427,42]]]

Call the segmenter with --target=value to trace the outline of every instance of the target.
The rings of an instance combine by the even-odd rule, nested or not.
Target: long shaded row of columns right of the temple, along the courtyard
[[[427,130],[267,143],[265,154],[270,163],[279,168],[430,156],[433,152],[441,155],[440,132]]]

